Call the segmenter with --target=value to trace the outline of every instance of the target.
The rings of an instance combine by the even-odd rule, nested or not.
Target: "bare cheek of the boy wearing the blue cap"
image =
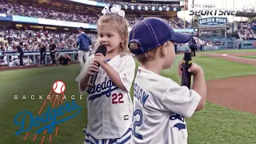
[[[173,65],[176,56],[174,51],[174,45],[174,42],[166,42],[166,46],[164,47],[165,56],[163,58],[162,69],[169,69]]]

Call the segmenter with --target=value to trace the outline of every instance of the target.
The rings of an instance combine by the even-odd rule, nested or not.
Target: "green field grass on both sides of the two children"
[[[182,54],[178,54],[174,66],[168,70],[162,70],[166,77],[180,82],[177,73],[178,62],[182,59]],[[255,74],[256,67],[244,65],[236,62],[229,62],[218,58],[208,58],[200,56],[193,59],[194,62],[202,66],[205,71],[206,80],[228,78],[231,76]],[[138,66],[138,63],[137,63]],[[66,122],[59,124],[58,136],[52,135],[51,143],[77,144],[82,143],[84,134],[82,128],[86,126],[86,96],[83,100],[78,99],[78,85],[74,78],[79,74],[79,66],[57,66],[42,67],[30,70],[11,70],[0,72],[0,137],[1,144],[32,144],[41,143],[44,134],[38,134],[33,142],[35,127],[30,130],[26,138],[26,132],[15,136],[19,127],[14,125],[14,117],[22,110],[30,110],[35,115],[41,108],[44,100],[26,99],[22,100],[22,95],[27,98],[34,94],[35,96],[47,95],[54,81],[60,79],[66,83],[66,96],[70,102],[69,96],[75,95],[76,103],[82,107],[81,114]],[[132,93],[133,90],[131,90]],[[17,94],[18,100],[14,100]],[[46,106],[49,106],[46,104]],[[58,106],[57,106],[58,107]],[[42,110],[42,113],[45,109]],[[74,113],[71,113],[74,114]],[[69,114],[70,115],[70,114]],[[67,115],[65,115],[67,116]],[[62,117],[61,117],[62,118]],[[256,143],[256,115],[231,110],[229,108],[218,106],[206,102],[204,110],[197,112],[190,119],[186,119],[189,143],[190,144],[254,144]],[[30,121],[26,121],[26,126]],[[45,125],[42,125],[45,126]],[[45,142],[49,143],[49,134],[46,134]]]

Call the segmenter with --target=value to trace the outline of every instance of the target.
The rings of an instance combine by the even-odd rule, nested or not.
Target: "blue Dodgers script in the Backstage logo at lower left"
[[[56,125],[65,122],[71,118],[74,118],[81,112],[81,110],[81,106],[78,106],[74,102],[74,99],[72,100],[72,103],[66,102],[65,105],[59,106],[57,109],[50,109],[50,106],[48,106],[46,113],[43,113],[41,116],[34,116],[30,111],[24,110],[18,113],[14,118],[15,125],[20,126],[20,130],[16,132],[16,136],[18,136],[22,132],[29,131],[30,129],[32,129],[33,126],[38,127],[38,130],[36,130],[37,134],[41,133],[43,130],[46,129],[48,133],[52,133]],[[58,116],[62,116],[72,111],[76,111],[75,114],[72,114],[57,121]],[[28,127],[25,126],[26,122],[30,122]],[[43,124],[45,124],[45,126],[42,126]]]

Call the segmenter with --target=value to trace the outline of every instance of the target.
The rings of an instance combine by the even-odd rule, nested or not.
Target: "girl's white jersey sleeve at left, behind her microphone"
[[[86,60],[86,63],[85,63],[85,66],[82,67],[82,70],[80,72],[80,74],[78,75],[77,78],[75,78],[75,81],[78,82],[78,89],[79,89],[79,93],[80,94],[84,94],[85,93],[85,89],[82,89],[81,88],[81,79],[82,79],[82,76],[86,73],[86,70],[87,68],[90,66],[90,64],[93,62],[93,59],[94,59],[94,55],[91,55],[87,60]]]

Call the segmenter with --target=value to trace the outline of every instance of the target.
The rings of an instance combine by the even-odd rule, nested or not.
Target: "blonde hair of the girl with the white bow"
[[[116,30],[118,30],[118,34],[120,34],[123,40],[123,42],[120,43],[121,55],[130,54],[130,50],[128,49],[129,23],[126,18],[123,18],[118,14],[104,14],[101,18],[98,19],[97,27],[101,26],[103,23],[110,23],[110,25],[114,25]]]

